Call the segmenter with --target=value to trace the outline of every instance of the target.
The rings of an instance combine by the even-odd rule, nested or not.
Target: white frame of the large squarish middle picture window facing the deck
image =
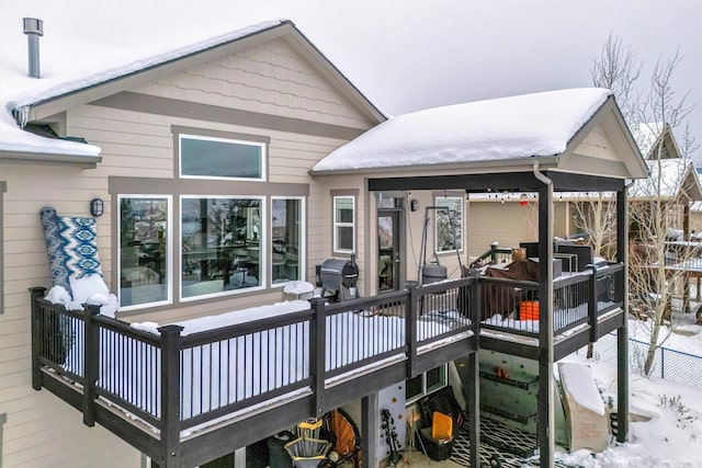
[[[178,251],[178,279],[173,278],[173,283],[178,281],[178,301],[179,304],[188,304],[195,300],[204,300],[210,298],[222,298],[222,297],[230,297],[239,294],[252,293],[264,290],[268,279],[268,239],[260,235],[259,237],[259,285],[252,287],[242,287],[240,289],[228,289],[223,290],[220,293],[212,293],[212,294],[202,294],[199,296],[190,296],[183,297],[183,199],[202,199],[202,198],[222,198],[222,199],[258,199],[260,203],[260,214],[259,217],[261,219],[261,232],[267,232],[269,229],[265,226],[265,219],[268,217],[267,209],[267,199],[269,198],[265,195],[200,195],[200,194],[183,194],[178,197],[178,209],[180,214],[180,218],[178,220],[178,230],[179,230],[179,251]]]

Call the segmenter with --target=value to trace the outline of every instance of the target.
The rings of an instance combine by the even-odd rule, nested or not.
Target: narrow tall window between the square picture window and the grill
[[[273,198],[271,207],[271,282],[302,279],[303,199]]]

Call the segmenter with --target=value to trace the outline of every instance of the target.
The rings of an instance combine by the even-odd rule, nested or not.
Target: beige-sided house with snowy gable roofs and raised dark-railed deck
[[[610,331],[626,335],[623,208],[615,263],[554,282],[551,262],[558,192],[609,191],[625,202],[625,181],[647,173],[607,90],[388,118],[287,21],[66,81],[2,72],[19,90],[3,89],[9,113],[0,117],[0,414],[9,466],[137,466],[140,453],[161,466],[202,465],[346,404],[360,407],[363,463],[376,466],[385,455],[370,442],[382,435],[378,393],[456,359],[467,363],[461,377],[477,446],[478,334],[486,351],[539,368],[534,431],[548,465],[554,362]],[[477,298],[495,285],[462,277],[467,228],[480,222],[466,212],[466,194],[489,191],[539,194],[537,236],[523,240],[539,240],[546,261],[537,279],[508,287],[541,298],[536,323],[480,323]],[[39,210],[88,216],[92,201],[104,206],[97,244],[121,320],[50,305],[43,288],[27,293],[53,282]],[[426,216],[428,206],[443,210]],[[458,279],[405,287],[429,283],[422,243]],[[261,311],[252,308],[281,301],[286,284],[314,282],[325,260],[353,255],[356,301],[279,316],[265,309],[258,321],[192,333],[149,324]],[[600,282],[613,285],[607,301],[598,300]],[[576,286],[577,310],[565,299]],[[423,309],[435,304],[453,315]],[[73,334],[56,332],[67,322]],[[623,441],[626,340],[619,342]],[[57,357],[66,346],[75,355]],[[244,351],[225,363],[229,346]],[[275,366],[279,352],[286,364]],[[223,383],[234,389],[214,398]]]

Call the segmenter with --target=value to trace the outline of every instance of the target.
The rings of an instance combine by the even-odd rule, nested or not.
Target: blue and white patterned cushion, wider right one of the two
[[[102,276],[94,218],[59,216],[58,230],[69,277]]]

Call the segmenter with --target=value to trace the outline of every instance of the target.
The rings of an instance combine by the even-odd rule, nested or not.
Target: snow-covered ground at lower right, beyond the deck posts
[[[680,326],[665,346],[702,355],[702,327],[694,324],[694,315],[676,319]],[[630,320],[630,335],[646,341],[646,324]],[[585,353],[564,361],[591,366],[603,400],[611,397],[616,404],[614,365],[586,359]],[[578,450],[556,457],[582,467],[702,467],[702,390],[631,374],[630,395],[630,411],[642,420],[630,424],[630,442],[612,443],[600,454]]]

